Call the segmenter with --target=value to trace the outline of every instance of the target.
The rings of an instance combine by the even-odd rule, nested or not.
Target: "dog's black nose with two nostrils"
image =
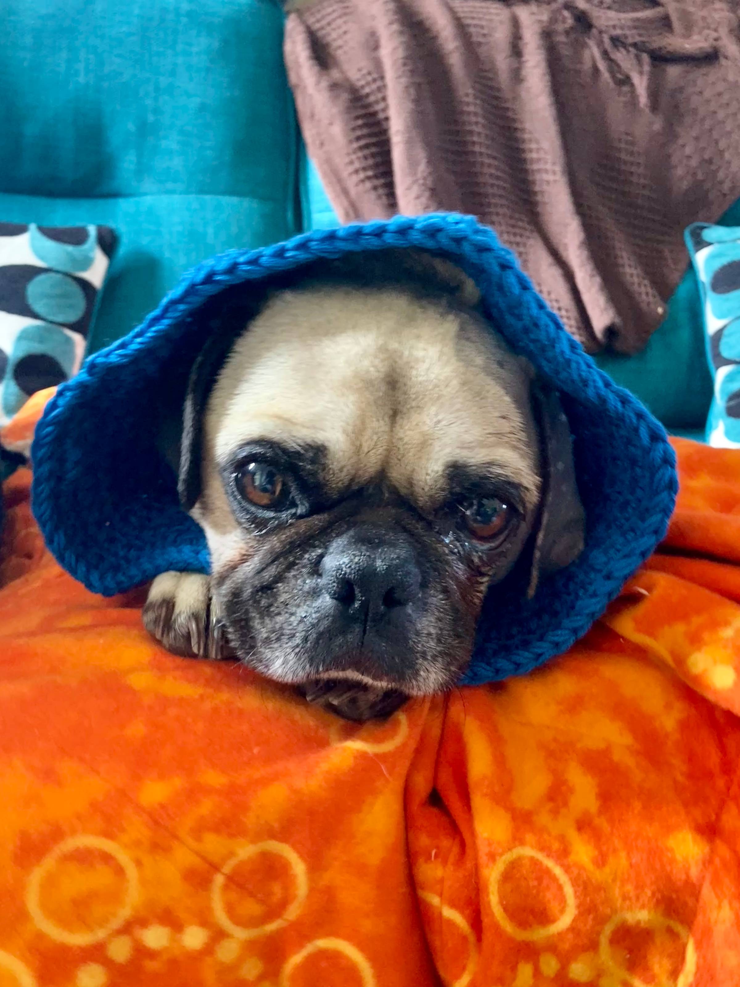
[[[421,574],[403,531],[364,525],[333,541],[321,566],[328,596],[356,620],[382,619],[419,593]]]

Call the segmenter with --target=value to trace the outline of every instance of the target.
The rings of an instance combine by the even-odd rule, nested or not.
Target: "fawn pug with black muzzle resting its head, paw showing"
[[[582,551],[555,392],[421,252],[229,291],[170,453],[212,571],[156,578],[146,628],[350,720],[449,689],[486,594],[532,595]]]

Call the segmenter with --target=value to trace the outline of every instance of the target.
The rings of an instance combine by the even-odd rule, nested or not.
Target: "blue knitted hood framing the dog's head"
[[[180,507],[151,414],[151,396],[187,373],[208,332],[199,306],[320,257],[389,247],[427,250],[467,271],[493,327],[560,392],[574,436],[585,549],[532,600],[495,588],[464,681],[526,672],[583,635],[665,533],[673,451],[658,422],[568,336],[496,235],[456,214],[399,216],[230,251],[197,266],[138,329],[92,356],[49,403],[33,447],[34,510],[59,564],[104,595],[167,569],[207,572],[205,539]]]

